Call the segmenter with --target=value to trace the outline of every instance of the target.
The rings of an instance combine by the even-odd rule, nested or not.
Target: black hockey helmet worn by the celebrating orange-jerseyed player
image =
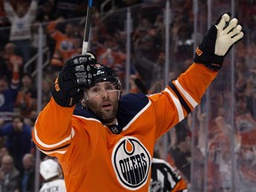
[[[122,89],[122,85],[119,77],[117,76],[116,70],[108,68],[107,66],[102,65],[100,63],[97,63],[92,65],[92,71],[93,72],[91,87],[94,86],[94,84],[109,81],[116,85],[116,90]]]

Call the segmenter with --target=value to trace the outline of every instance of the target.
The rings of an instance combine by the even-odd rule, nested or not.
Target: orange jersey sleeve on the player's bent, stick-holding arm
[[[63,108],[51,98],[37,117],[32,137],[46,155],[60,157],[66,152],[74,134],[71,125],[74,108]]]

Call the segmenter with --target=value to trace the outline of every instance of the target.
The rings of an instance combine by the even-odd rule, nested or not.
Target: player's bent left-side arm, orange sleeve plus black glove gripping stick
[[[90,55],[79,55],[67,61],[56,78],[50,102],[37,117],[32,136],[46,155],[65,154],[76,133],[71,117],[76,103],[84,96],[84,89],[91,83],[91,62]]]

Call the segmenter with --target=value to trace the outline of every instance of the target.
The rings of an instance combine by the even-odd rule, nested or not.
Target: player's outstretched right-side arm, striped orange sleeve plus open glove
[[[196,49],[195,62],[162,92],[167,95],[164,97],[167,100],[162,105],[157,105],[159,107],[156,106],[159,108],[156,109],[157,116],[160,119],[164,118],[163,122],[168,123],[170,122],[168,119],[174,119],[172,124],[164,124],[166,125],[165,131],[168,127],[182,121],[196,108],[204,92],[217,76],[228,51],[243,36],[242,27],[237,24],[237,19],[230,20],[227,13],[222,15],[216,25],[209,28],[202,43]],[[155,97],[157,99],[159,96]],[[172,109],[166,102],[171,103]],[[163,116],[163,113],[168,116]]]

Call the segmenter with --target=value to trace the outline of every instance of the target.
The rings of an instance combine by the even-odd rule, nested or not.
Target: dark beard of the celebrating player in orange
[[[94,103],[87,101],[86,106],[88,109],[92,111],[92,113],[99,117],[100,121],[103,124],[111,124],[116,119],[116,113],[118,109],[118,100],[112,101],[112,109],[111,110],[105,110],[104,108],[101,108],[101,105],[99,103]]]

